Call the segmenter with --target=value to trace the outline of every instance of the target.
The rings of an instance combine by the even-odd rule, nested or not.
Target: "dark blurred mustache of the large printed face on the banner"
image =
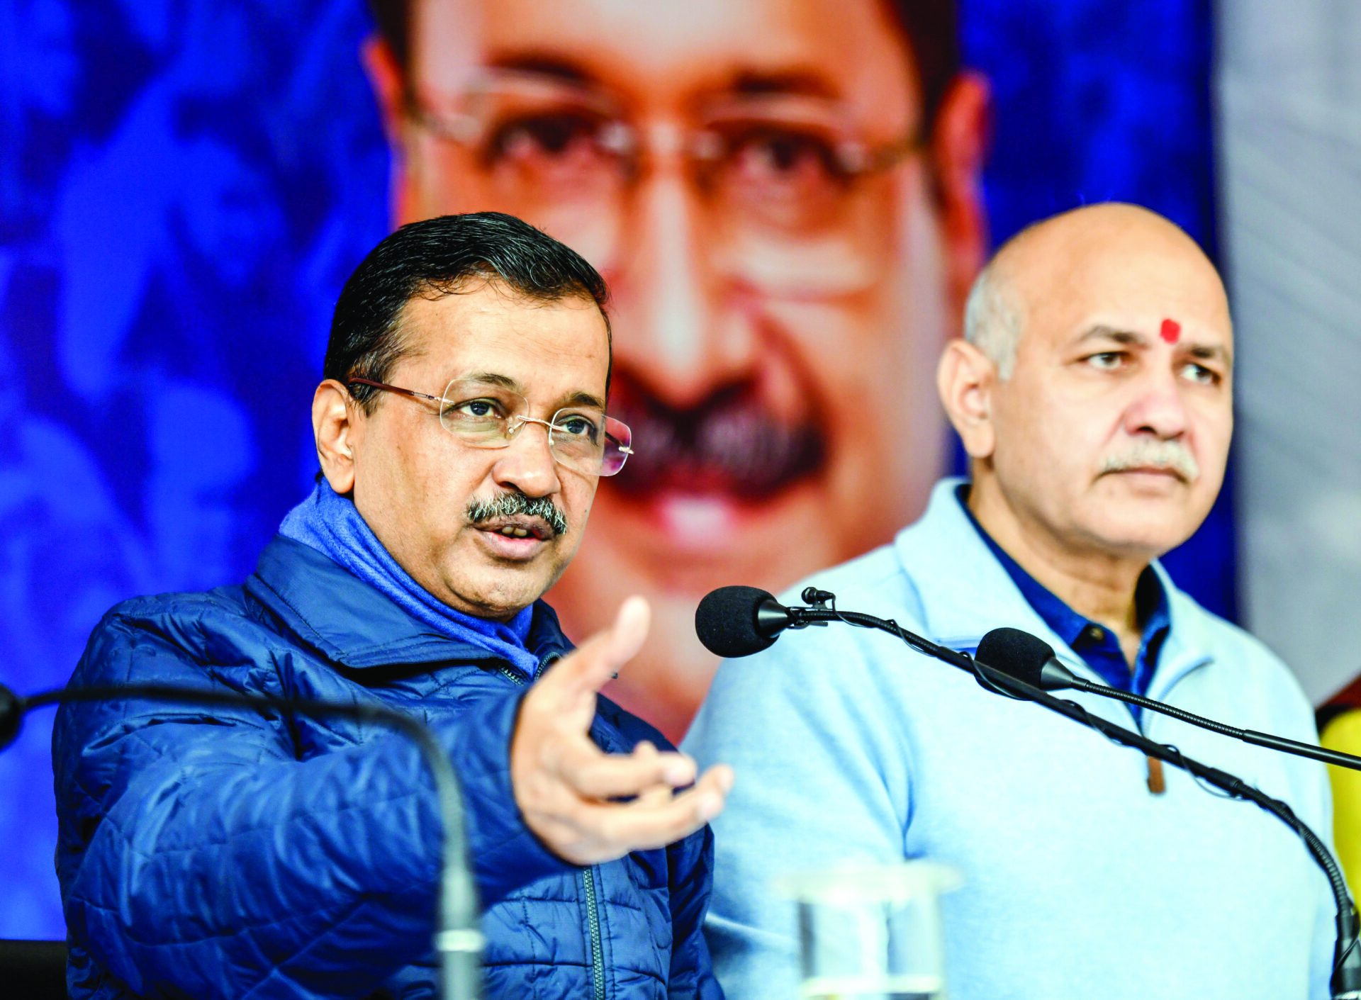
[[[804,418],[769,412],[750,385],[725,386],[676,410],[630,385],[611,408],[633,427],[637,449],[611,486],[626,493],[723,490],[746,499],[778,493],[821,468],[826,442]]]

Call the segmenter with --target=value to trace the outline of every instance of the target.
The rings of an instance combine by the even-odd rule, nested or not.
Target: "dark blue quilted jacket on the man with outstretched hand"
[[[535,608],[529,648],[570,649]],[[464,784],[490,997],[720,997],[700,933],[712,834],[577,868],[528,831],[509,744],[531,678],[431,634],[275,537],[244,586],[142,597],[75,684],[171,683],[401,706]],[[666,740],[600,699],[608,751]],[[143,701],[53,733],[72,997],[429,997],[440,822],[416,750],[378,727]]]

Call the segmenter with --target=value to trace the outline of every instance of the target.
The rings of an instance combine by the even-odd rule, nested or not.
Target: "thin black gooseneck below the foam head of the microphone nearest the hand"
[[[876,629],[879,631],[889,633],[890,635],[896,635],[902,639],[902,642],[912,649],[916,649],[919,653],[924,653],[925,656],[942,660],[951,667],[968,671],[983,687],[994,691],[995,694],[1043,705],[1051,712],[1056,712],[1075,722],[1081,722],[1082,725],[1096,729],[1113,743],[1134,747],[1149,756],[1154,756],[1172,765],[1173,767],[1179,767],[1192,777],[1214,785],[1230,797],[1255,803],[1281,819],[1282,823],[1300,835],[1305,848],[1309,850],[1309,854],[1323,869],[1324,875],[1327,875],[1328,886],[1332,890],[1332,899],[1338,907],[1338,936],[1337,946],[1332,951],[1332,1000],[1361,1000],[1361,947],[1357,944],[1357,913],[1351,905],[1351,897],[1347,894],[1347,886],[1342,878],[1342,869],[1338,868],[1338,863],[1334,860],[1327,845],[1319,839],[1319,835],[1315,834],[1304,820],[1294,815],[1286,803],[1279,799],[1273,799],[1264,792],[1252,788],[1243,780],[1236,778],[1226,771],[1210,767],[1209,765],[1187,756],[1173,746],[1155,743],[1142,733],[1126,729],[1124,727],[1116,725],[1115,722],[1101,718],[1100,716],[1093,716],[1077,702],[1067,701],[1064,698],[1055,698],[1048,691],[1034,687],[1033,684],[1028,684],[1023,680],[1018,680],[994,667],[988,667],[985,663],[974,660],[968,653],[960,653],[954,649],[949,649],[947,646],[938,645],[931,639],[923,638],[916,633],[908,631],[891,618],[882,619],[875,618],[874,615],[864,615],[857,611],[837,611],[836,597],[825,590],[815,592],[813,597],[810,597],[806,590],[803,599],[818,600],[819,603],[832,603],[833,607],[785,608],[776,604],[773,600],[766,601],[757,608],[757,629],[773,635],[780,629],[803,629],[810,624],[845,622],[847,624],[859,626],[862,629]]]

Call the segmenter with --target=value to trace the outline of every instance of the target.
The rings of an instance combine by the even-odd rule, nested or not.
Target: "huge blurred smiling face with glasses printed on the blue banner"
[[[369,52],[395,220],[506,211],[610,282],[636,456],[550,600],[577,635],[652,600],[610,694],[678,737],[715,667],[698,599],[889,540],[943,471],[984,88],[928,125],[879,0],[419,0],[410,26],[404,67]]]

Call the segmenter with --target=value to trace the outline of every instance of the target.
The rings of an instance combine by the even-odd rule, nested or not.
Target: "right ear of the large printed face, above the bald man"
[[[965,69],[946,90],[931,133],[931,166],[957,331],[962,329],[969,288],[988,256],[983,162],[991,136],[992,94],[988,82],[981,73]]]

